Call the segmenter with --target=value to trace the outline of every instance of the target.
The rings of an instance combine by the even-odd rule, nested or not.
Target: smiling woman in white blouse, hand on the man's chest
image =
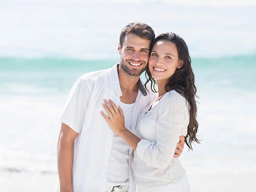
[[[198,122],[196,87],[191,58],[185,41],[175,33],[160,34],[152,43],[146,74],[151,89],[158,84],[158,96],[142,111],[136,135],[125,128],[123,111],[110,100],[101,112],[112,130],[135,150],[132,160],[137,189],[150,191],[189,191],[186,171],[173,158],[179,135],[192,149]]]

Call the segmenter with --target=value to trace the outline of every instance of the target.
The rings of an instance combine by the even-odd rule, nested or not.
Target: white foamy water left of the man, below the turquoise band
[[[56,142],[65,96],[1,96],[0,169],[56,171]]]

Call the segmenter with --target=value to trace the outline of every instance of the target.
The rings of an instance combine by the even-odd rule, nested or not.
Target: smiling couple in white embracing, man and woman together
[[[155,38],[151,26],[133,22],[121,30],[118,53],[119,63],[82,75],[69,93],[56,191],[189,191],[178,157],[184,143],[199,141],[185,41],[172,32]]]

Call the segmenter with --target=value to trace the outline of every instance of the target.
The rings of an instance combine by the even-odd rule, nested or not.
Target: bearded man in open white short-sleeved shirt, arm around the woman
[[[120,64],[86,73],[74,83],[61,117],[57,161],[61,192],[133,191],[131,148],[112,132],[100,114],[103,99],[111,99],[125,115],[125,126],[135,130],[139,113],[155,95],[140,80],[146,69],[154,30],[130,23],[118,44]],[[178,143],[179,156],[184,140]]]

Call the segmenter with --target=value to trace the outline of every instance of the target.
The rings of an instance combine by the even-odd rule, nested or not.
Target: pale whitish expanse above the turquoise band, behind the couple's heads
[[[193,56],[255,54],[256,0],[194,2],[0,0],[0,57],[113,58],[120,29],[132,21],[176,32]]]

